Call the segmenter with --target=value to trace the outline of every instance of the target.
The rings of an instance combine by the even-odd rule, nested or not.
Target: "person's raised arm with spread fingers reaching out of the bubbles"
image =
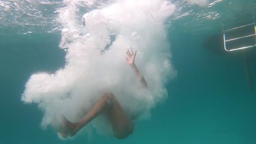
[[[131,49],[131,52],[129,50],[126,51],[128,57],[126,57],[127,63],[131,66],[131,68],[135,71],[136,76],[139,79],[139,82],[141,82],[141,85],[143,88],[148,88],[148,84],[144,77],[142,76],[141,72],[138,70],[136,64],[135,64],[135,57],[137,51],[133,53],[133,50]]]

